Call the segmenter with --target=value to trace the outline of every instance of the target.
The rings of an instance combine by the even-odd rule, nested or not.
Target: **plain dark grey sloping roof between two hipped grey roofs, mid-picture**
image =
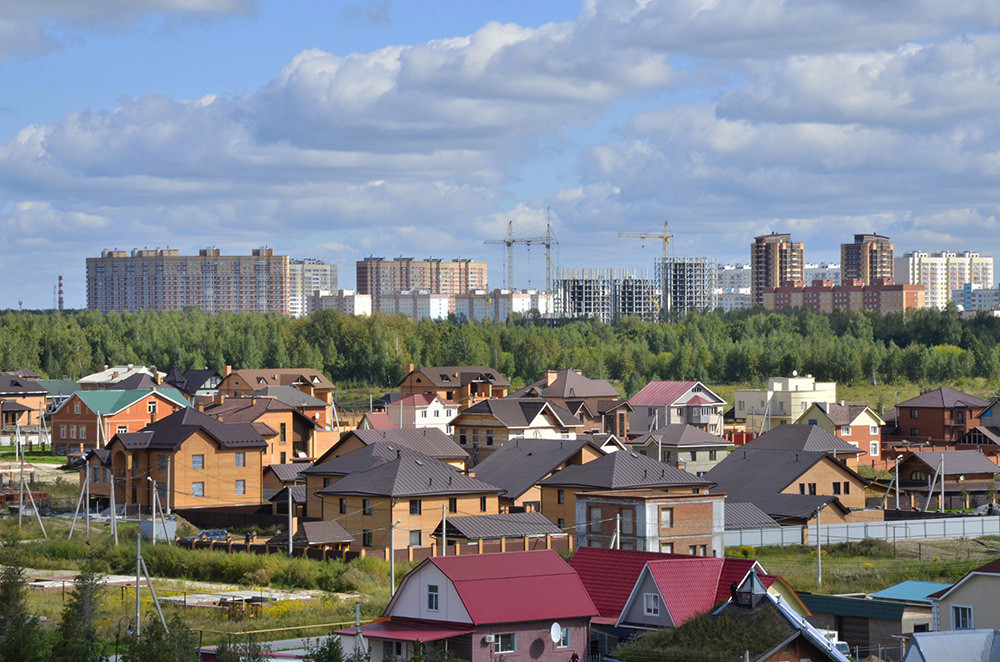
[[[476,477],[516,499],[588,445],[585,439],[511,439],[476,465]]]

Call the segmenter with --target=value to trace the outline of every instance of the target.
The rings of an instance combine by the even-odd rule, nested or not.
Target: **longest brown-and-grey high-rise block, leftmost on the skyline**
[[[222,255],[217,248],[193,256],[177,249],[101,251],[87,258],[87,307],[288,314],[288,256],[270,248],[249,256]]]

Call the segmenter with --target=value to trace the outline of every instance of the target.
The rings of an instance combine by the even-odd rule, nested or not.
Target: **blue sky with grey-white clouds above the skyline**
[[[1000,252],[995,0],[0,3],[0,309],[103,249],[560,268]],[[515,287],[544,286],[518,246]]]

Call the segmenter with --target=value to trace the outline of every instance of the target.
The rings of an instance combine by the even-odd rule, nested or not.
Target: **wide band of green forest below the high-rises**
[[[489,365],[515,386],[578,368],[618,380],[626,395],[653,379],[757,385],[793,370],[841,384],[1000,378],[1000,319],[954,310],[817,315],[761,308],[676,321],[625,318],[507,323],[319,311],[291,319],[197,310],[0,313],[0,370],[70,377],[135,363],[166,371],[225,365],[310,367],[342,386],[393,386],[408,363]]]

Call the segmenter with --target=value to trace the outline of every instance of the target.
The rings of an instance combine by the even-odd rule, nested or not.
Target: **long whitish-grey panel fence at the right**
[[[725,546],[801,545],[808,528],[808,543],[816,543],[816,526],[782,526],[771,529],[734,529],[726,531]],[[865,538],[880,540],[923,540],[927,538],[979,538],[1000,535],[1000,516],[942,517],[935,519],[895,520],[886,522],[854,522],[851,524],[821,524],[819,535],[823,544],[851,542]]]

